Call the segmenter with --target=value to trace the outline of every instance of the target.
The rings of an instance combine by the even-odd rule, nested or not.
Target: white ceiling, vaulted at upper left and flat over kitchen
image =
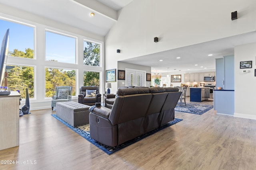
[[[0,0],[0,5],[24,10],[104,37],[118,21],[118,10],[131,2],[132,0]],[[91,12],[95,14],[94,17],[90,16]],[[131,58],[124,62],[151,66],[152,71],[158,72],[167,72],[167,68],[169,72],[211,69],[215,68],[216,58],[234,54],[236,45],[253,42],[256,42],[255,31]],[[208,56],[209,54],[212,56]]]

